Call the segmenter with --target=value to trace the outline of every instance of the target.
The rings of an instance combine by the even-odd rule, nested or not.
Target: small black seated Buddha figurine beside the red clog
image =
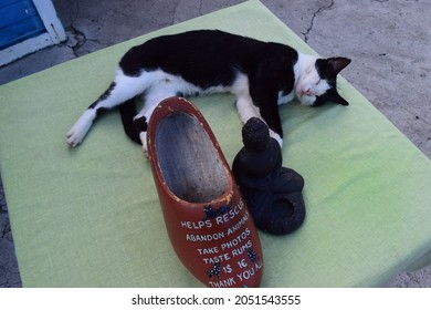
[[[242,141],[232,173],[254,224],[274,235],[293,232],[305,218],[304,178],[282,167],[282,149],[262,120],[252,117],[245,123]]]

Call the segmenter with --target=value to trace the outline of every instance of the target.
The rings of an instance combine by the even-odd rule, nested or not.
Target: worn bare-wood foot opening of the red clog
[[[168,188],[190,203],[209,203],[229,186],[228,172],[211,138],[192,115],[175,112],[156,133],[159,168]]]

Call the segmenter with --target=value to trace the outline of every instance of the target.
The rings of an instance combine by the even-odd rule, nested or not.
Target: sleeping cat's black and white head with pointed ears
[[[350,63],[347,58],[317,59],[302,61],[295,94],[302,104],[318,106],[325,102],[348,105],[337,92],[337,75]]]

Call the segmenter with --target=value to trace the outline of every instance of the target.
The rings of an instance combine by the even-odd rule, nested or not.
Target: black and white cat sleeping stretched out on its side
[[[346,58],[318,59],[218,30],[158,37],[123,56],[114,82],[81,115],[66,141],[77,146],[102,112],[118,106],[125,132],[146,152],[147,121],[160,101],[230,92],[236,96],[241,121],[260,117],[282,145],[278,105],[295,96],[305,105],[328,101],[348,105],[337,92],[336,78],[349,63]],[[145,104],[136,114],[138,95],[144,95]]]

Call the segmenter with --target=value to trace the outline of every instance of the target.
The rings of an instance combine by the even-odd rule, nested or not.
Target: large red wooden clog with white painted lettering
[[[166,228],[183,266],[208,287],[259,287],[259,235],[202,114],[185,99],[164,100],[147,143]]]

